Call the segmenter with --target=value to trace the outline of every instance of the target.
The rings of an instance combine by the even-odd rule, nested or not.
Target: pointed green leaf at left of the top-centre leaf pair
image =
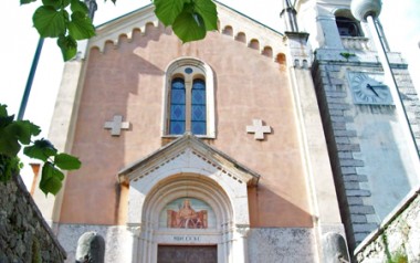
[[[165,27],[171,25],[187,2],[188,0],[155,0],[155,14]]]

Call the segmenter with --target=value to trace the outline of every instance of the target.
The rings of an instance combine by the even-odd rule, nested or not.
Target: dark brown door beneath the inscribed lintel
[[[158,245],[158,263],[217,263],[217,245]]]

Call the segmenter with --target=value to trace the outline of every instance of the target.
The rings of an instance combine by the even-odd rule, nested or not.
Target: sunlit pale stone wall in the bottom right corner
[[[355,251],[357,262],[420,262],[420,188]]]

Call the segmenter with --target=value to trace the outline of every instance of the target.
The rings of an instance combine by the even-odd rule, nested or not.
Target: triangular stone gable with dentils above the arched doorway
[[[118,179],[129,182],[153,176],[157,170],[171,166],[186,170],[220,171],[222,176],[245,182],[248,186],[256,186],[260,179],[256,172],[191,134],[185,134],[151,155],[125,167],[118,172]]]

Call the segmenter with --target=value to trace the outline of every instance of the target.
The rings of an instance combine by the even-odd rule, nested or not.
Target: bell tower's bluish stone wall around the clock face
[[[393,105],[355,103],[350,73],[380,74],[372,52],[319,49],[312,67],[350,253],[418,183],[417,158],[410,158]],[[346,51],[348,52],[348,51]],[[410,125],[420,139],[420,105],[398,53],[389,54]],[[403,122],[402,122],[403,123]],[[387,194],[384,194],[387,192]]]

